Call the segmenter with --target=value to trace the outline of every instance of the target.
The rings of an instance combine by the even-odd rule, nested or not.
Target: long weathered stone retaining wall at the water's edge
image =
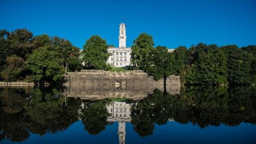
[[[164,85],[164,79],[155,81],[141,70],[127,72],[110,72],[103,70],[82,70],[65,75],[64,85]],[[166,85],[180,85],[179,76],[166,78]]]

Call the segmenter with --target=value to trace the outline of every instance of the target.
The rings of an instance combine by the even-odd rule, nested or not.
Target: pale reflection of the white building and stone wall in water
[[[161,85],[121,85],[115,86],[93,86],[93,85],[70,85],[67,86],[63,95],[66,97],[75,97],[82,100],[102,100],[111,99],[112,101],[106,106],[108,113],[107,122],[118,122],[119,143],[125,143],[126,122],[131,122],[131,106],[136,105],[135,100],[141,100],[153,94],[154,90],[164,91]],[[179,94],[180,85],[168,85],[166,92],[169,94]],[[119,101],[116,101],[118,99]],[[123,101],[120,101],[123,100]],[[133,102],[127,102],[133,100]],[[82,108],[84,105],[82,103]],[[80,113],[78,111],[78,113]],[[173,121],[170,119],[169,121]]]

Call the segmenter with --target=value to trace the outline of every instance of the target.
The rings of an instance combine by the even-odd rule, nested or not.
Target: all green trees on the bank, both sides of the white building
[[[33,36],[26,29],[0,30],[0,81],[61,83],[66,71],[109,70],[108,46],[101,37],[91,36],[80,52],[60,37]],[[199,43],[168,52],[165,46],[154,47],[152,36],[140,34],[132,45],[131,62],[133,69],[142,69],[156,80],[179,75],[189,85],[256,82],[256,45],[239,48]]]

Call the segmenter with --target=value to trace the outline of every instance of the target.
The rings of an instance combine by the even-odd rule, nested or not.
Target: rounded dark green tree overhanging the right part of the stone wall
[[[149,52],[147,57],[149,60],[148,66],[145,68],[145,71],[149,75],[153,75],[155,80],[161,79],[164,77],[166,83],[166,77],[175,73],[174,55],[171,52],[168,52],[165,46],[157,46],[155,49]]]

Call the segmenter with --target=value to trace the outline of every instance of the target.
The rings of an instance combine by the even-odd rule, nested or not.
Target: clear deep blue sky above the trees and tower
[[[69,39],[80,48],[92,35],[118,46],[122,17],[127,25],[127,46],[140,33],[152,35],[155,46],[169,48],[199,42],[256,44],[256,0],[0,0],[0,29],[27,28],[34,35]]]

